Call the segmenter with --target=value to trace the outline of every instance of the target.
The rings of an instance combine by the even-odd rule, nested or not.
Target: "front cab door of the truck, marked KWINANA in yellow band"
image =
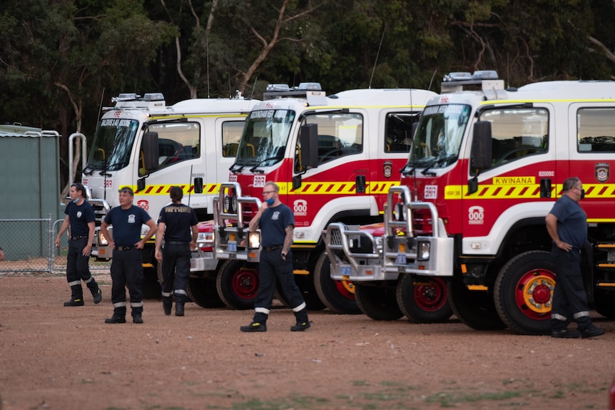
[[[491,128],[491,166],[480,170],[477,191],[462,196],[464,237],[497,236],[481,245],[481,252],[496,253],[489,246],[497,247],[514,222],[544,218],[552,206],[554,198],[540,189],[542,179],[552,180],[553,188],[556,181],[552,113],[550,105],[482,111],[479,121]]]

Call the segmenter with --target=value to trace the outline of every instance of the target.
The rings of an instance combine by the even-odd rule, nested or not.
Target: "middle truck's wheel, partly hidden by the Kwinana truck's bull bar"
[[[314,285],[322,303],[331,312],[339,314],[360,314],[361,309],[355,300],[355,287],[347,280],[332,280],[329,257],[320,254],[314,269]]]

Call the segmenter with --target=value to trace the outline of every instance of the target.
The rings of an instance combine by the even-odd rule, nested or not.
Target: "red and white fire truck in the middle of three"
[[[318,83],[273,85],[248,116],[229,182],[215,199],[214,253],[221,299],[249,309],[258,290],[259,232],[248,222],[266,181],[294,212],[295,282],[309,309],[360,313],[349,281],[333,281],[322,243],[330,222],[382,219],[386,194],[399,184],[425,103],[417,89],[357,89],[326,96]],[[282,296],[283,295],[279,295]]]

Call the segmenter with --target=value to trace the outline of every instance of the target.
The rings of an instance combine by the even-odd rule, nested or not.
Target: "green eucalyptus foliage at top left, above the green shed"
[[[133,0],[2,1],[0,31],[5,96],[32,103],[19,118],[1,120],[59,130],[64,158],[70,133],[93,132],[104,89],[108,105],[112,93],[149,82],[148,65],[170,34]],[[37,120],[39,110],[47,118]]]

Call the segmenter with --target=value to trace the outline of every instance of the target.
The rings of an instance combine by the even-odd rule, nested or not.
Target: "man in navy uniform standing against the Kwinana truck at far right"
[[[587,240],[587,216],[579,205],[585,190],[579,178],[567,178],[561,195],[546,217],[553,240],[551,255],[556,267],[556,284],[551,310],[551,337],[575,339],[600,336],[589,317],[587,296],[581,277],[581,248]],[[568,329],[574,319],[579,332]]]

